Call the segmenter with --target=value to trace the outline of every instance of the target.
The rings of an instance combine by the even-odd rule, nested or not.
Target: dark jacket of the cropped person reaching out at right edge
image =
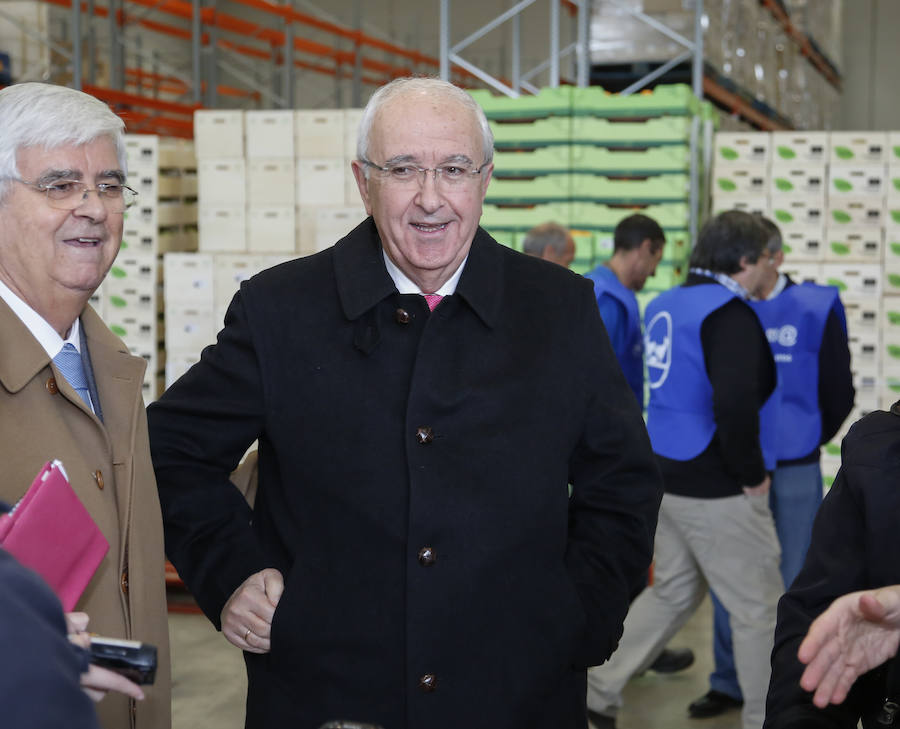
[[[803,569],[778,604],[765,729],[876,726],[885,667],[861,676],[839,706],[817,709],[800,688],[797,649],[812,621],[848,592],[900,583],[900,403],[854,424],[841,446],[841,469],[813,526]],[[895,669],[896,670],[896,669]],[[894,694],[894,700],[900,696]]]

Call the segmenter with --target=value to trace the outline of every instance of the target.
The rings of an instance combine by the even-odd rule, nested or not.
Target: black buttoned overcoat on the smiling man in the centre
[[[242,284],[149,422],[167,552],[210,619],[285,575],[248,727],[586,726],[661,493],[589,281],[479,229],[429,314],[369,219]],[[251,528],[228,474],[256,438]]]

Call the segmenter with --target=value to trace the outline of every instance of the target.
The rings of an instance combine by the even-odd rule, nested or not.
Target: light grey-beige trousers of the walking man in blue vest
[[[775,608],[784,592],[768,499],[663,496],[653,584],[632,603],[616,652],[588,671],[590,709],[614,715],[628,680],[649,668],[712,587],[731,616],[743,729],[760,729]]]

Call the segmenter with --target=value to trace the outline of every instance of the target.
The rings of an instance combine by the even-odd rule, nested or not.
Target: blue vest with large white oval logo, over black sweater
[[[676,461],[699,456],[716,432],[712,384],[706,373],[700,327],[735,294],[719,284],[678,286],[657,296],[644,314],[647,353],[647,432],[653,451]],[[773,394],[774,395],[774,394]],[[777,398],[759,411],[766,468],[775,467]]]

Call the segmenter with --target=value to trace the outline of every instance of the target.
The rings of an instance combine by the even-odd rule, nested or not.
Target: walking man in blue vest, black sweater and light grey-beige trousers
[[[769,510],[775,362],[746,303],[764,276],[767,234],[746,213],[707,223],[687,281],[645,314],[647,428],[665,494],[653,585],[632,603],[619,647],[593,669],[588,716],[615,726],[628,679],[649,666],[711,586],[731,614],[742,725],[765,714],[775,607],[783,591]]]

